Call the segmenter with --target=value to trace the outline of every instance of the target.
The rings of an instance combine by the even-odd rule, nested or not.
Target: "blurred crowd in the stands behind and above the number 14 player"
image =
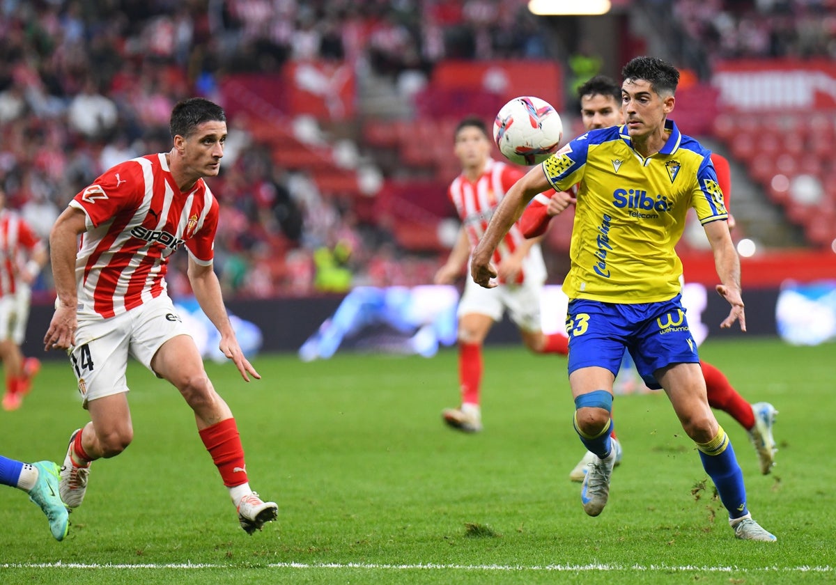
[[[331,59],[358,74],[395,76],[426,73],[448,57],[542,56],[543,39],[529,26],[500,26],[522,6],[8,0],[0,4],[0,186],[9,206],[48,237],[67,202],[104,169],[168,149],[168,114],[179,99],[222,103],[227,72],[271,74],[288,60]],[[234,119],[230,127],[242,130]],[[405,262],[385,227],[359,224],[308,177],[276,168],[246,132],[231,133],[211,186],[223,217],[217,270],[229,293],[331,290],[340,279],[329,273],[339,271],[355,272],[355,283],[417,284],[436,267],[435,258]],[[36,297],[51,286],[45,274]],[[173,293],[181,282],[172,275]]]

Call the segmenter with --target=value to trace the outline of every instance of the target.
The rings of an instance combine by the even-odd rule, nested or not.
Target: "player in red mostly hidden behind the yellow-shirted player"
[[[624,117],[621,114],[621,88],[612,79],[604,75],[598,75],[581,85],[578,90],[578,99],[581,105],[581,119],[584,121],[586,130],[597,130],[609,128],[609,126],[624,124]],[[723,192],[728,207],[729,197],[732,194],[732,175],[729,169],[728,160],[722,155],[711,153],[711,162],[714,165],[717,175],[717,184]],[[578,186],[573,186],[570,192],[555,192],[548,197],[544,194],[534,196],[531,203],[523,212],[519,225],[523,228],[526,237],[538,237],[548,228],[548,221],[553,216],[563,211],[568,204],[575,202],[573,193],[577,192]],[[729,229],[734,227],[732,214],[728,216]],[[683,303],[685,304],[685,296]],[[686,305],[686,309],[687,309]],[[702,339],[694,336],[697,344]],[[757,458],[761,467],[761,473],[767,474],[775,464],[775,453],[777,448],[772,438],[772,422],[777,410],[767,402],[749,404],[746,399],[737,393],[729,383],[726,375],[716,366],[700,360],[702,375],[706,379],[706,391],[708,404],[711,408],[722,410],[731,415],[734,420],[747,430],[752,444],[757,450]],[[621,366],[630,370],[628,375],[635,373],[635,364],[628,352],[624,353],[624,363]],[[617,381],[617,380],[616,380]],[[612,435],[615,439],[615,435]],[[617,452],[616,465],[621,459],[621,446],[616,442],[614,449]],[[584,481],[589,465],[594,463],[595,454],[587,451],[578,465],[575,465],[569,473],[571,481]]]

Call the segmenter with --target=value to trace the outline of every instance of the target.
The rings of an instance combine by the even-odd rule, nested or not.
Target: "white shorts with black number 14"
[[[166,293],[115,317],[79,316],[76,345],[67,354],[84,408],[90,400],[128,391],[125,370],[129,354],[151,369],[151,359],[163,343],[187,334]]]

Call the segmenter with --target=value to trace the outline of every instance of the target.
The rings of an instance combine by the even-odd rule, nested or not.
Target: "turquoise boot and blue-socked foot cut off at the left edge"
[[[0,484],[17,487],[47,516],[49,532],[63,541],[69,532],[69,514],[58,489],[59,467],[52,461],[23,463],[0,455]]]

